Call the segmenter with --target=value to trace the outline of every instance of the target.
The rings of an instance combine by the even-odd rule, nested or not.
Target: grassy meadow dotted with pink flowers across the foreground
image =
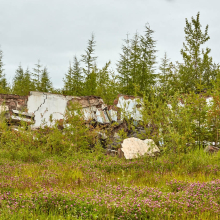
[[[33,159],[33,158],[32,158]],[[220,154],[135,160],[99,152],[12,159],[1,151],[0,219],[218,219]]]

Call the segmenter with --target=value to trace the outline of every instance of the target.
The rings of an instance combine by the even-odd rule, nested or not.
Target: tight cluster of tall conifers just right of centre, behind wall
[[[127,95],[134,95],[136,86],[142,93],[149,94],[156,83],[156,41],[152,37],[154,31],[148,24],[145,28],[143,36],[136,33],[132,40],[127,36],[117,63],[120,92]]]

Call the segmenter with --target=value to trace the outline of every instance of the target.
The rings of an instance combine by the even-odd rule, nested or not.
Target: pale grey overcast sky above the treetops
[[[164,53],[181,61],[185,18],[200,12],[209,25],[215,62],[220,62],[219,0],[0,0],[0,45],[9,82],[21,63],[32,69],[38,60],[48,67],[56,88],[73,56],[84,53],[91,33],[96,40],[98,67],[111,60],[115,69],[123,39],[149,23],[157,40],[157,61]]]

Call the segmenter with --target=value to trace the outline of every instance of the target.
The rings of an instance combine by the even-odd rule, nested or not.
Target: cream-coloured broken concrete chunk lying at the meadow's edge
[[[121,144],[121,151],[126,159],[134,159],[139,156],[155,156],[155,153],[159,153],[160,149],[154,143],[152,139],[140,140],[138,138],[124,139]]]

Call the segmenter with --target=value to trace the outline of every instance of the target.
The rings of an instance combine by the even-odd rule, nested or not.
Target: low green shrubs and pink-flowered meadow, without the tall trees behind
[[[86,124],[80,108],[69,109],[62,129],[13,130],[2,116],[0,219],[217,219],[220,152],[203,149],[218,145],[216,97],[212,105],[194,93],[182,105],[178,94],[171,106],[144,99],[140,126],[161,154],[133,160],[105,155],[101,127]]]

